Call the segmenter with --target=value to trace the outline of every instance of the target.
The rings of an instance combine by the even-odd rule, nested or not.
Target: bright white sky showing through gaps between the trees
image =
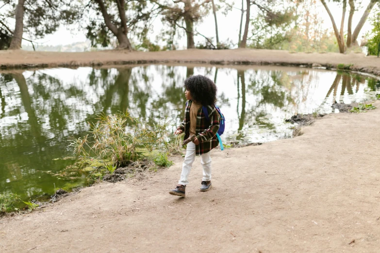
[[[363,0],[363,6],[366,6],[368,4],[369,0]],[[335,23],[338,26],[338,29],[340,27],[340,20],[342,17],[342,9],[341,7],[334,2],[329,2],[328,6],[330,8],[331,13],[334,16]],[[239,3],[235,3],[236,8],[241,8],[241,5],[239,6]],[[332,31],[331,21],[330,17],[327,14],[325,8],[322,6],[322,4],[318,1],[318,4],[315,6],[316,10],[318,11],[319,15],[325,20],[324,26],[325,28],[329,28]],[[254,8],[251,8],[251,13],[254,10]],[[362,14],[363,14],[364,8],[360,9],[359,11],[355,12],[355,15],[353,16],[353,27],[356,26],[358,21],[360,20]],[[348,18],[348,11],[349,8],[347,7],[347,14],[346,14],[346,22],[345,22],[345,31],[347,31],[347,18]],[[253,15],[253,14],[252,14]],[[240,23],[240,16],[241,12],[237,9],[232,9],[227,16],[224,16],[221,12],[217,13],[217,22],[219,27],[219,40],[221,42],[226,41],[228,39],[231,39],[233,43],[237,44],[238,41],[238,34],[239,34],[239,23]],[[243,18],[243,29],[244,29],[244,20]],[[155,37],[157,34],[161,32],[163,25],[160,22],[160,20],[156,20],[154,22],[154,27],[152,34],[150,35],[151,41],[155,41]],[[203,18],[202,22],[196,25],[196,28],[198,32],[206,35],[207,37],[215,37],[215,21],[214,16],[212,12],[206,17]],[[361,34],[364,34],[365,32],[369,31],[371,29],[371,26],[369,22],[366,22],[363,26],[363,29],[361,31]],[[69,31],[66,27],[61,26],[56,32],[53,34],[47,35],[45,38],[36,40],[37,42],[43,43],[42,45],[45,46],[58,46],[58,45],[69,45],[76,42],[84,42],[86,41],[85,37],[86,31],[76,31],[75,34],[71,31]],[[360,38],[360,36],[359,36]],[[195,36],[195,42],[197,44],[198,41],[203,42],[204,38],[201,36]],[[26,42],[24,42],[25,45]],[[182,39],[180,40],[180,48],[179,49],[185,49],[186,47],[186,37],[182,36]]]

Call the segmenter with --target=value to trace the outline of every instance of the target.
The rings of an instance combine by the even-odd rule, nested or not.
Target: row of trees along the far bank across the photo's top
[[[231,20],[239,26],[238,34],[231,35],[238,36],[238,47],[345,53],[359,46],[359,33],[380,0],[330,1],[339,2],[342,7],[337,15],[341,17],[343,13],[340,28],[328,0],[0,0],[0,49],[20,49],[22,40],[33,45],[33,40],[55,32],[60,25],[76,25],[76,30],[86,31],[93,47],[175,50],[179,38],[185,35],[187,48],[225,49],[236,45],[231,40],[219,40],[217,14],[227,16],[231,11],[239,11],[240,20]],[[322,27],[329,20],[318,15],[318,4],[329,14],[333,32]],[[354,26],[352,17],[362,9],[361,19]],[[199,33],[198,24],[211,13],[214,24],[210,24],[207,34]],[[371,20],[376,28],[375,19]],[[157,21],[163,24],[157,39],[165,46],[149,39]],[[10,26],[12,23],[14,27]],[[378,32],[374,29],[366,34],[371,48],[378,45]],[[196,45],[195,36],[204,42]],[[370,53],[374,51],[371,49]]]

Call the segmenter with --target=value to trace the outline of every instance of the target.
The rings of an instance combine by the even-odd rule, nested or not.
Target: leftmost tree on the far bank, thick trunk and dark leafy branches
[[[6,15],[0,15],[1,29],[12,34],[9,49],[20,49],[22,40],[33,41],[23,37],[24,32],[34,39],[55,32],[60,24],[72,24],[78,15],[77,2],[70,0],[0,0],[2,6],[8,7]],[[16,6],[14,9],[13,6]],[[8,25],[8,19],[15,18],[15,29]],[[34,45],[33,45],[34,47]]]

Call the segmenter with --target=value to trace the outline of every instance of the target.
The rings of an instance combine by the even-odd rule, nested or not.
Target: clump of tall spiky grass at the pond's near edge
[[[181,137],[168,133],[168,122],[148,126],[128,112],[100,114],[97,119],[91,125],[91,134],[71,138],[70,146],[83,157],[95,155],[103,161],[111,160],[112,167],[104,164],[106,168],[128,165],[152,152],[177,154],[182,148]]]

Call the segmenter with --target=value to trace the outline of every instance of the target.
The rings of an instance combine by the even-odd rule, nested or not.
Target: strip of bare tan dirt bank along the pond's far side
[[[107,50],[83,53],[33,52],[23,50],[0,51],[0,69],[101,66],[145,63],[203,63],[203,64],[280,64],[324,66],[336,68],[338,64],[348,69],[380,75],[380,58],[362,53],[289,53],[282,50],[232,49],[232,50],[178,50],[164,52],[130,52]]]

